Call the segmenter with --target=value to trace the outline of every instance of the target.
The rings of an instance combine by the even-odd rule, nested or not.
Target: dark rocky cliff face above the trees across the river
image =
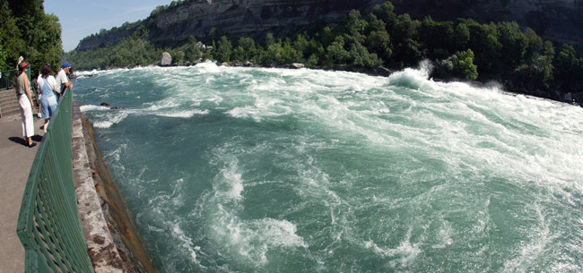
[[[384,0],[198,0],[158,13],[142,22],[152,42],[185,40],[205,36],[212,28],[221,34],[247,34],[269,30],[284,33],[316,19],[335,20],[352,9],[369,12]],[[393,0],[397,13],[413,18],[430,14],[434,20],[459,17],[480,22],[517,21],[544,38],[583,41],[583,0]],[[104,37],[88,38],[77,50],[117,42],[137,27],[118,30]]]

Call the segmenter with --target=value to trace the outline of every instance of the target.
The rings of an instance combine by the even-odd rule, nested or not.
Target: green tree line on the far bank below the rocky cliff
[[[213,29],[199,37],[212,46],[210,51],[201,50],[194,37],[176,47],[158,47],[148,35],[143,25],[115,45],[73,51],[66,58],[78,69],[106,69],[156,64],[167,51],[181,64],[202,58],[362,72],[379,67],[400,70],[429,59],[434,66],[431,76],[439,79],[499,81],[509,90],[535,90],[538,96],[555,99],[583,90],[583,59],[572,45],[544,40],[535,30],[521,30],[516,22],[413,20],[407,13],[397,14],[389,1],[366,15],[352,10],[343,21],[317,21],[292,36],[266,33],[256,41]]]

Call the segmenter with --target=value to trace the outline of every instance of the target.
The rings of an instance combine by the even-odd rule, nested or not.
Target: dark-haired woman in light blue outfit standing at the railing
[[[42,79],[39,81],[39,89],[42,94],[40,97],[40,114],[45,119],[43,130],[47,132],[48,121],[55,111],[57,111],[58,100],[55,93],[57,93],[58,87],[55,77],[51,75],[52,70],[50,69],[50,64],[43,65],[40,73],[42,74]]]

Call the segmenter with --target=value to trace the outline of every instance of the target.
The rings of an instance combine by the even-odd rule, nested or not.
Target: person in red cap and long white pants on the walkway
[[[18,78],[16,78],[16,96],[18,97],[18,104],[21,106],[22,115],[22,136],[26,145],[30,148],[37,145],[33,143],[31,137],[34,135],[34,120],[32,119],[32,98],[30,97],[30,82],[26,75],[29,64],[22,61],[18,64]]]

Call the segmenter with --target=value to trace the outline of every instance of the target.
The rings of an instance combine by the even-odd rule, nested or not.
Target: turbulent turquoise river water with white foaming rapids
[[[580,107],[208,63],[74,99],[162,272],[583,271]]]

